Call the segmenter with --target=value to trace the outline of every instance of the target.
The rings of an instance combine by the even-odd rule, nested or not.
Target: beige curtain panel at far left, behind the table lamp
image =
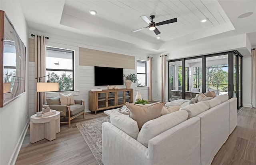
[[[45,37],[35,35],[35,76],[36,78],[46,76],[46,44]],[[35,79],[38,82],[38,79]],[[45,78],[41,78],[40,82],[46,82]],[[37,87],[36,87],[37,88]],[[46,102],[45,92],[36,92],[36,109],[42,111],[42,105]],[[41,106],[40,106],[41,105]]]

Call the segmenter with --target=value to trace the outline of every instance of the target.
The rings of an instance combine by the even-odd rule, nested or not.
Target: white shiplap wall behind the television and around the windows
[[[76,40],[72,38],[66,38],[64,36],[57,36],[54,34],[48,34],[48,33],[43,33],[43,32],[37,32],[34,30],[29,30],[29,34],[38,34],[38,35],[44,35],[49,37],[48,40],[46,40],[46,46],[52,46],[56,48],[64,48],[64,49],[69,49],[69,50],[74,50],[74,72],[75,72],[75,90],[72,92],[74,95],[74,99],[82,99],[85,101],[85,111],[89,111],[89,105],[88,105],[88,91],[91,89],[96,89],[96,88],[101,88],[101,89],[107,89],[107,86],[94,86],[94,67],[93,66],[79,66],[79,47],[82,48],[89,48],[89,49],[94,49],[94,50],[101,50],[101,51],[106,51],[106,52],[113,52],[113,53],[118,53],[118,54],[125,54],[129,56],[134,56],[135,57],[135,64],[136,60],[144,60],[147,61],[147,55],[138,55],[136,54],[137,52],[134,52],[132,54],[131,52],[127,51],[120,51],[118,48],[115,46],[104,46],[104,45],[99,45],[99,44],[93,44],[86,39],[84,40]],[[29,35],[30,36],[30,35]],[[30,97],[31,99],[34,98],[33,93],[35,93],[35,77],[34,77],[34,62],[29,62],[29,77],[30,77]],[[136,65],[134,70],[129,70],[129,69],[124,69],[124,74],[136,74]],[[117,85],[116,87],[120,88],[125,88],[125,85]],[[110,86],[112,88],[112,86]],[[143,99],[148,99],[148,88],[147,87],[136,87],[136,83],[132,83],[132,88],[134,89],[134,101],[135,101],[135,96],[137,91],[141,92],[141,95]],[[59,92],[51,92],[47,93],[46,97],[55,97],[58,96]],[[70,93],[70,92],[62,92],[62,93]],[[34,114],[35,111],[35,105],[34,101],[31,101],[30,105],[30,115]]]

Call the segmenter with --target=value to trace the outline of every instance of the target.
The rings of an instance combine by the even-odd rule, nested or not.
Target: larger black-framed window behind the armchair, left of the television
[[[46,47],[46,75],[59,82],[59,91],[74,90],[74,51]]]

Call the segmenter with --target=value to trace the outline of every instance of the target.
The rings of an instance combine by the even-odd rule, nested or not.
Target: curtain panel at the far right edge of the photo
[[[252,49],[252,107],[256,108],[256,50]]]

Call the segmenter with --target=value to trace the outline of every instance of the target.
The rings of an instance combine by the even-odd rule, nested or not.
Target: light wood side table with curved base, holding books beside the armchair
[[[39,117],[36,114],[30,117],[30,143],[42,139],[52,141],[56,139],[56,133],[60,132],[60,112],[46,117]]]

